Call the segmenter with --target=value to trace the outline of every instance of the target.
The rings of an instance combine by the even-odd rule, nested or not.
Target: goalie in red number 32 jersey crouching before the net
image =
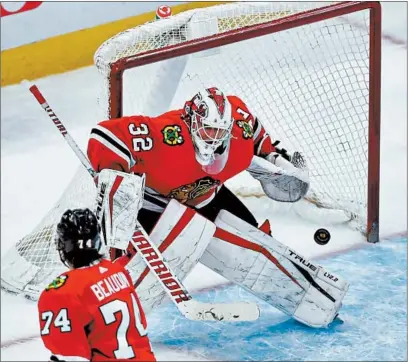
[[[180,279],[201,262],[296,320],[328,326],[348,284],[274,239],[268,222],[258,227],[224,186],[248,170],[271,199],[298,201],[309,188],[306,162],[278,144],[242,100],[217,88],[203,89],[183,109],[155,118],[99,123],[91,131],[88,157],[99,173],[102,235],[130,238],[130,220],[138,212],[138,222]],[[138,175],[146,177],[141,208],[136,205],[143,190],[129,191]],[[112,202],[116,198],[121,201]],[[204,232],[214,224],[211,233]],[[164,292],[141,259],[127,269],[144,307],[160,304]]]

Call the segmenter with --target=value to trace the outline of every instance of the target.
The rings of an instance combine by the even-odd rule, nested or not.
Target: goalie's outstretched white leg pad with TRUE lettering
[[[336,317],[348,283],[222,210],[204,265],[311,327]]]

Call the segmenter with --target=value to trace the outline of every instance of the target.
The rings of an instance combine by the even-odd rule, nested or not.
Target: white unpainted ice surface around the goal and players
[[[405,35],[404,35],[405,36]],[[406,36],[405,36],[406,39]],[[380,220],[382,237],[407,230],[407,57],[406,45],[384,44],[381,125]],[[66,123],[82,148],[89,126],[102,117],[94,104],[99,77],[92,67],[37,81],[49,103]],[[1,89],[1,254],[32,230],[60,196],[78,167],[78,161],[31,94],[21,85]],[[265,198],[245,199],[259,219],[270,216]],[[309,257],[353,247],[363,237],[345,226],[330,226],[332,240],[326,246],[313,241],[322,223],[274,216],[272,228],[278,240]],[[226,280],[198,265],[188,276],[188,288],[200,289]],[[36,336],[36,305],[1,291],[2,360],[45,360],[48,353],[37,338],[24,344],[4,343]],[[156,346],[159,359],[199,360]]]

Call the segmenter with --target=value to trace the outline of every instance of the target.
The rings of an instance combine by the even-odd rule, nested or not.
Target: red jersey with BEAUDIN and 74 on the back
[[[130,276],[102,259],[57,277],[38,301],[41,337],[54,361],[155,361]]]

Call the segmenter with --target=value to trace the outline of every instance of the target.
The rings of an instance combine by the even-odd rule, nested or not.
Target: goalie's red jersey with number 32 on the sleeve
[[[218,174],[207,174],[196,161],[182,109],[155,118],[131,116],[99,123],[91,131],[89,160],[98,172],[111,168],[145,173],[147,204],[149,196],[160,195],[197,208],[205,206],[226,180],[247,169],[254,154],[264,156],[274,150],[244,102],[227,98],[234,124],[228,161]]]

